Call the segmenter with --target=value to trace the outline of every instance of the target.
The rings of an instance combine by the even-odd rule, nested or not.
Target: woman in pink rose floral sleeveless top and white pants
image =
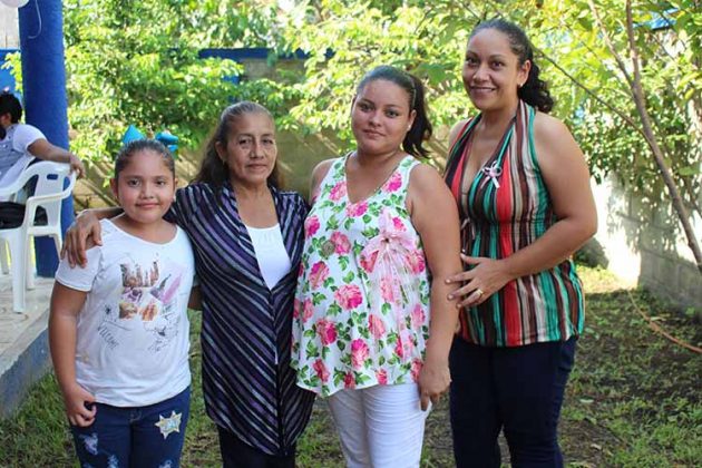
[[[459,226],[446,184],[417,159],[431,135],[423,96],[399,69],[370,71],[351,111],[357,150],[312,175],[292,365],[329,397],[352,467],[419,466],[426,410],[450,381]]]

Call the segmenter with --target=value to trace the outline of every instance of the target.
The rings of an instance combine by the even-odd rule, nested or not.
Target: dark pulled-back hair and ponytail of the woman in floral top
[[[415,157],[427,157],[429,150],[422,146],[431,138],[431,123],[427,117],[427,103],[425,85],[419,78],[399,68],[381,65],[363,76],[355,91],[361,90],[371,81],[386,80],[404,89],[409,96],[410,111],[415,110],[415,121],[402,142],[402,149]]]

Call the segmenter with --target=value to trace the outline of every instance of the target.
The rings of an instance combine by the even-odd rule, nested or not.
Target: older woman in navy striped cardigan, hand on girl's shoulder
[[[193,242],[203,309],[203,388],[225,467],[294,467],[314,393],[295,386],[290,340],[306,204],[276,181],[275,127],[254,103],[227,107],[195,182],[169,216]],[[69,255],[82,260],[95,216]],[[71,247],[72,248],[72,247]]]

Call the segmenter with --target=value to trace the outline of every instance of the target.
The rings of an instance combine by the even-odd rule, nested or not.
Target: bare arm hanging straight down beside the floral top
[[[429,341],[419,376],[421,407],[427,409],[429,400],[436,403],[451,381],[448,354],[456,332],[458,310],[447,299],[454,285],[446,280],[461,270],[458,209],[439,174],[423,165],[412,170],[408,205],[432,275]]]

